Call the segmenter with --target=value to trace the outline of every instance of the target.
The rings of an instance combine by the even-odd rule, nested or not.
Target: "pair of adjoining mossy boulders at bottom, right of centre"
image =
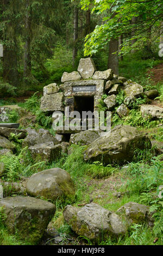
[[[94,241],[123,236],[132,223],[153,225],[152,215],[149,206],[134,202],[123,205],[116,213],[95,203],[86,204],[83,208],[67,205],[64,210],[64,219],[72,230]]]

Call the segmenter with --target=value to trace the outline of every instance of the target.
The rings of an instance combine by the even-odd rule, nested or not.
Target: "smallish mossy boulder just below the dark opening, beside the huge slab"
[[[82,146],[89,145],[97,138],[99,138],[97,131],[86,130],[77,134],[72,134],[70,137],[70,144],[80,144]]]

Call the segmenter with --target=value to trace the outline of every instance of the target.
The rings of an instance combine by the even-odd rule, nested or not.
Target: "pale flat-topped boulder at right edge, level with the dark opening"
[[[154,119],[163,118],[163,107],[158,107],[154,105],[141,105],[140,112],[142,113],[142,117],[151,117]]]

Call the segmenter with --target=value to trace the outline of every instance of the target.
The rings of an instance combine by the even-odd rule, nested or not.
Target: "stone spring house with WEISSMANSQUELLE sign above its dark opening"
[[[99,100],[105,93],[107,81],[117,78],[111,69],[96,71],[91,58],[80,59],[78,71],[64,72],[61,78],[62,84],[49,84],[43,88],[41,109],[44,112],[61,111],[65,107],[71,111],[97,111]],[[73,133],[73,131],[60,131],[58,133]]]

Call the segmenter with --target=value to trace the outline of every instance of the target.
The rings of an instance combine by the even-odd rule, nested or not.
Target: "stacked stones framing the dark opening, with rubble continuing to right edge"
[[[94,109],[99,107],[99,100],[105,95],[104,103],[108,111],[116,112],[120,118],[126,117],[136,97],[147,96],[154,99],[159,95],[157,90],[144,92],[144,88],[125,77],[117,76],[111,69],[97,71],[91,58],[80,59],[78,71],[64,72],[60,86],[56,83],[43,88],[41,109],[44,112],[62,111],[66,106],[74,110],[74,96],[94,96]],[[117,94],[123,90],[124,102],[118,103]],[[158,113],[159,111],[159,113]],[[162,108],[141,106],[142,115],[152,115],[162,118]],[[156,114],[158,113],[158,114]]]

